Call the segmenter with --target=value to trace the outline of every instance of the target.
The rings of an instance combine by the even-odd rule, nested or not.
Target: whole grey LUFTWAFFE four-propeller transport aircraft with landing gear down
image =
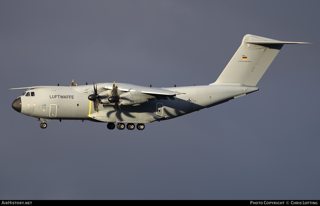
[[[154,88],[128,83],[77,86],[33,86],[12,103],[13,109],[36,117],[41,128],[50,120],[106,122],[107,128],[143,130],[145,123],[172,119],[258,91],[256,87],[284,44],[261,36],[245,35],[239,49],[217,81],[204,86]]]

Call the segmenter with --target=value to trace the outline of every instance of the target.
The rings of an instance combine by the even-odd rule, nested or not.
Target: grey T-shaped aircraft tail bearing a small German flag
[[[311,43],[282,42],[247,34],[217,81],[209,85],[256,86],[284,44]]]

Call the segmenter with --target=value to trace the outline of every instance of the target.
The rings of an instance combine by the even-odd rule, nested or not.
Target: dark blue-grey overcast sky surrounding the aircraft
[[[0,199],[319,199],[318,1],[0,1]],[[215,82],[244,35],[284,45],[259,91],[108,130],[11,107],[9,88]],[[4,98],[5,97],[5,98]]]

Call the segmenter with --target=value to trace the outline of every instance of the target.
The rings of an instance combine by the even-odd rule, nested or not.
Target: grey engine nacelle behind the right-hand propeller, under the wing
[[[148,102],[148,99],[156,98],[148,94],[141,93],[141,91],[128,91],[120,94],[120,105],[135,105]]]

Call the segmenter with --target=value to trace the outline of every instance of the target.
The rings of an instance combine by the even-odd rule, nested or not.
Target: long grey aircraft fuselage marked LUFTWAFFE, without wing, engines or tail
[[[158,95],[142,104],[120,106],[118,111],[116,111],[115,103],[100,104],[99,113],[96,113],[93,102],[88,99],[88,95],[93,94],[93,85],[44,86],[28,89],[24,95],[19,97],[21,100],[20,113],[40,118],[41,121],[59,119],[109,123],[151,123],[212,107],[259,90],[258,87],[251,86],[222,85],[165,89],[179,91],[183,94],[169,98]],[[18,101],[19,98],[15,101]]]

